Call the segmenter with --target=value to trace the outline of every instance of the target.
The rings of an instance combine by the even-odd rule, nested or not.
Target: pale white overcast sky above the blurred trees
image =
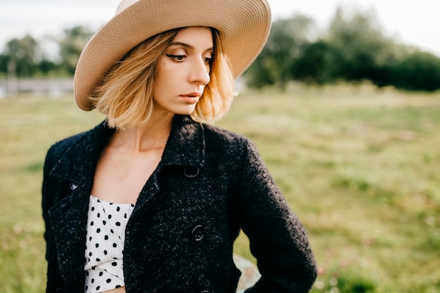
[[[6,41],[85,25],[96,29],[114,15],[120,0],[0,0],[0,49]],[[374,9],[384,33],[403,44],[418,46],[440,56],[439,0],[268,0],[273,17],[307,15],[325,28],[337,6]]]

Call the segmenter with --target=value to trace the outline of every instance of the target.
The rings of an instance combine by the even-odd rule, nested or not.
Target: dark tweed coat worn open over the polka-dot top
[[[47,292],[84,292],[93,174],[105,123],[53,145],[44,165]],[[252,293],[308,292],[316,266],[302,224],[246,138],[176,116],[127,223],[127,293],[235,292],[240,228],[262,275]]]

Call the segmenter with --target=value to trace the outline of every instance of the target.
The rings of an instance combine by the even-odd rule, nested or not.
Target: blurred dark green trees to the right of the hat
[[[313,39],[313,21],[296,16],[273,22],[268,42],[245,73],[250,86],[293,80],[306,84],[338,81],[413,91],[440,89],[440,58],[398,44],[382,32],[373,11],[339,8],[327,32]],[[305,33],[304,33],[305,32]]]

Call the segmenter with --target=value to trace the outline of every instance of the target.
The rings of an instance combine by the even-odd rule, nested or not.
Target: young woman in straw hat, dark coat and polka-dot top
[[[240,229],[261,273],[247,292],[309,291],[306,233],[254,145],[201,123],[270,24],[265,0],[122,1],[75,72],[79,108],[107,119],[46,155],[46,292],[235,292]]]

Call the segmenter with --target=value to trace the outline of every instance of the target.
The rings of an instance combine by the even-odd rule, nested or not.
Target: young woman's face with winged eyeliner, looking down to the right
[[[164,52],[153,92],[155,112],[189,115],[205,86],[214,45],[208,27],[187,27],[179,31]]]

